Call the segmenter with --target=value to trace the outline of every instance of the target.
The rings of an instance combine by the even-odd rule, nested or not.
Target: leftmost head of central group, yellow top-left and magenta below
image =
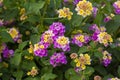
[[[37,44],[34,44],[35,56],[39,56],[41,58],[47,56],[48,55],[47,47],[48,47],[48,45],[46,45],[42,41]]]

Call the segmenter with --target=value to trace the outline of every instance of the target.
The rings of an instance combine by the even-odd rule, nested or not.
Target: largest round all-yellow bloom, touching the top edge
[[[75,10],[77,11],[78,15],[81,15],[83,17],[91,15],[93,11],[92,3],[86,0],[79,1],[79,3],[76,5]]]

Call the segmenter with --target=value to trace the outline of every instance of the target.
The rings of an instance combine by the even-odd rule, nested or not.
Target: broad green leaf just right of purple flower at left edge
[[[21,62],[21,53],[14,53],[14,56],[11,58],[11,64],[18,66]]]

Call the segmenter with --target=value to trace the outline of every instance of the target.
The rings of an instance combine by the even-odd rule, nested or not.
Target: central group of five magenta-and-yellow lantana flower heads
[[[69,38],[64,36],[65,26],[60,22],[54,22],[49,29],[45,31],[40,39],[40,42],[34,44],[34,54],[39,57],[46,57],[48,55],[47,48],[53,44],[54,48],[69,51]],[[62,57],[64,57],[62,59]],[[54,60],[53,60],[54,59]],[[57,62],[59,60],[59,62]],[[50,57],[50,64],[54,67],[60,64],[66,64],[66,57],[64,52],[54,53]]]

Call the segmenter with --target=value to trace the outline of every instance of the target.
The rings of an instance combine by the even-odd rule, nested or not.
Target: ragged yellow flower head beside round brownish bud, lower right
[[[79,57],[73,60],[76,63],[76,68],[79,68],[79,70],[84,70],[86,69],[86,65],[91,64],[91,59],[88,54],[80,54]]]

